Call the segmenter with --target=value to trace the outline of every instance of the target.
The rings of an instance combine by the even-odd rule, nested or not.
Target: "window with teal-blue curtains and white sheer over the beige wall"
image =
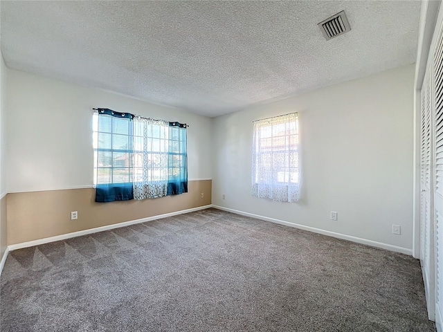
[[[188,192],[186,124],[97,110],[97,202],[154,199]]]

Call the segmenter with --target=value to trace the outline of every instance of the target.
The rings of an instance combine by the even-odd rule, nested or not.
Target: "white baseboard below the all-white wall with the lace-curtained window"
[[[388,243],[382,243],[382,242],[372,241],[372,240],[368,240],[368,239],[362,239],[361,237],[352,237],[351,235],[331,232],[330,230],[322,230],[320,228],[314,228],[314,227],[307,226],[307,225],[300,225],[299,223],[290,223],[289,221],[283,221],[280,219],[269,218],[267,216],[260,216],[258,214],[252,214],[252,213],[248,213],[248,212],[233,210],[230,208],[224,208],[224,207],[218,206],[218,205],[213,205],[213,208],[228,211],[228,212],[233,212],[235,214],[241,214],[242,216],[251,216],[252,218],[257,218],[257,219],[261,219],[264,221],[271,221],[271,223],[280,223],[280,225],[287,225],[287,226],[294,227],[294,228],[300,228],[300,230],[309,230],[309,232],[323,234],[323,235],[327,235],[329,237],[336,237],[338,239],[343,239],[343,240],[352,241],[352,242],[356,242],[356,243],[362,243],[362,244],[366,244],[366,245],[372,246],[372,247],[391,250],[391,251],[395,251],[395,252],[401,252],[402,254],[406,254],[406,255],[413,255],[412,249],[392,246],[392,244],[388,244]]]

